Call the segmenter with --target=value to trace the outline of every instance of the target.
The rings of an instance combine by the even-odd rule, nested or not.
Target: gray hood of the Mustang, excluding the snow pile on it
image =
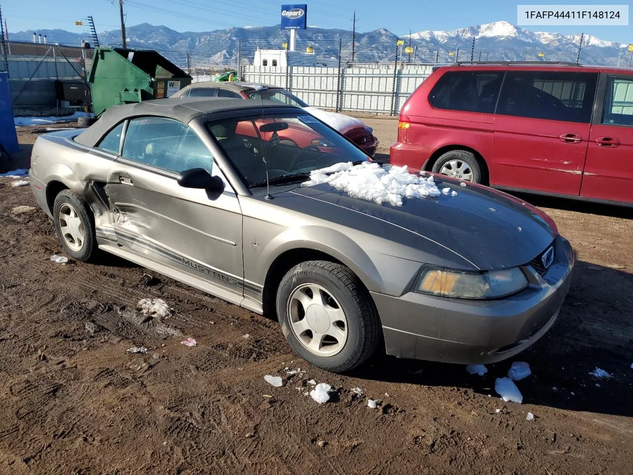
[[[329,184],[291,191],[310,203],[302,212],[416,248],[427,255],[452,251],[460,268],[503,269],[530,262],[556,236],[555,225],[541,211],[491,188],[436,178],[456,196],[403,198],[402,206],[353,198]],[[292,200],[285,201],[287,206]],[[282,203],[278,203],[282,204]],[[549,222],[551,222],[551,225]],[[398,255],[397,248],[385,254]],[[429,262],[429,261],[424,261]]]

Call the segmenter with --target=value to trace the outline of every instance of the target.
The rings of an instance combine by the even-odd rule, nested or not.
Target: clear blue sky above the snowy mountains
[[[517,3],[498,0],[318,0],[308,1],[308,24],[323,28],[351,29],[356,9],[360,31],[384,27],[395,34],[409,30],[453,30],[496,20],[517,22]],[[529,3],[525,0],[520,3]],[[532,3],[546,3],[534,1]],[[562,3],[562,2],[557,2]],[[570,3],[570,2],[568,2]],[[574,0],[576,4],[596,4]],[[613,2],[618,3],[618,2]],[[623,3],[623,2],[619,2]],[[229,26],[274,25],[279,23],[280,6],[276,0],[127,0],[126,25],[151,23],[177,31],[208,31]],[[75,20],[92,15],[97,31],[118,29],[118,7],[110,0],[0,0],[3,15],[11,31],[63,28],[81,32]],[[28,7],[28,8],[27,8]],[[633,12],[632,12],[633,13]],[[533,31],[572,34],[584,32],[600,39],[633,42],[633,27],[523,27]]]

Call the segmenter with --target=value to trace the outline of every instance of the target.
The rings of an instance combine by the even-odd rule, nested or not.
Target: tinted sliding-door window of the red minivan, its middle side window
[[[589,123],[597,80],[597,73],[510,71],[497,113]]]

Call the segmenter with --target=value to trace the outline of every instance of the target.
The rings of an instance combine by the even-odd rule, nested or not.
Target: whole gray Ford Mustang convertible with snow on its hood
[[[308,146],[280,140],[285,130]],[[304,141],[303,141],[304,142]],[[558,315],[574,253],[507,194],[371,162],[306,111],[160,99],[40,136],[30,186],[66,253],[106,251],[260,314],[311,364],[486,364]]]

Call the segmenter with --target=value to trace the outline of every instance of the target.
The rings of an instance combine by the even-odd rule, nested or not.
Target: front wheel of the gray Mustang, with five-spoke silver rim
[[[315,260],[292,267],[279,284],[277,315],[292,349],[327,371],[349,371],[379,345],[372,298],[341,264]]]

